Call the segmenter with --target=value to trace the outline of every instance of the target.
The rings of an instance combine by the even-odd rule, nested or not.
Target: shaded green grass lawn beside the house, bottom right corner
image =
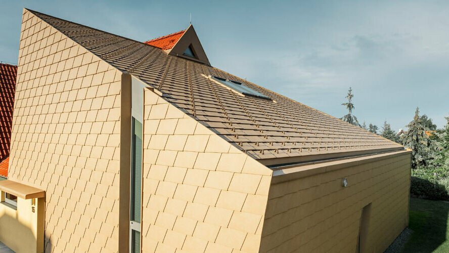
[[[449,203],[410,199],[409,227],[414,231],[403,252],[449,252]]]

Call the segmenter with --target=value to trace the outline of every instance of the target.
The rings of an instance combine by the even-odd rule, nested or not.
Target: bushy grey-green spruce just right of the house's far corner
[[[412,168],[426,166],[438,149],[435,141],[430,140],[426,131],[428,129],[421,121],[419,108],[416,108],[415,117],[408,125],[409,131],[404,139],[405,145],[412,150]]]

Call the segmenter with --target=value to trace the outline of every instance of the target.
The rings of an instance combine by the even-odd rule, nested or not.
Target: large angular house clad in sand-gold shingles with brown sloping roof
[[[16,252],[383,252],[408,225],[409,150],[213,67],[193,26],[21,29]]]

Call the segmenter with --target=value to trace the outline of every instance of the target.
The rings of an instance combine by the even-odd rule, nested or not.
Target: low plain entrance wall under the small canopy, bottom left
[[[5,192],[0,191],[1,201]],[[17,198],[17,209],[0,203],[0,241],[16,253],[43,251],[43,198],[35,199],[32,212],[31,199]]]

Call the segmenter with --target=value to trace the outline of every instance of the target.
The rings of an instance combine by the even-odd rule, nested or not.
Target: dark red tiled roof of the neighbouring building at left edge
[[[17,66],[0,63],[0,161],[5,159],[10,151],[16,75]],[[8,162],[6,164],[8,173]]]

